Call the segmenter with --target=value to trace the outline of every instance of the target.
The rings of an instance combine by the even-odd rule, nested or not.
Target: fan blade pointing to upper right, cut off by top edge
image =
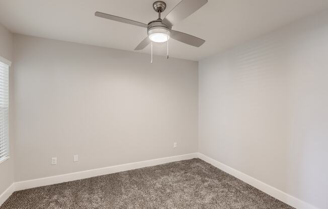
[[[203,7],[207,0],[182,0],[171,12],[163,19],[162,23],[173,26],[187,18],[199,8]]]

